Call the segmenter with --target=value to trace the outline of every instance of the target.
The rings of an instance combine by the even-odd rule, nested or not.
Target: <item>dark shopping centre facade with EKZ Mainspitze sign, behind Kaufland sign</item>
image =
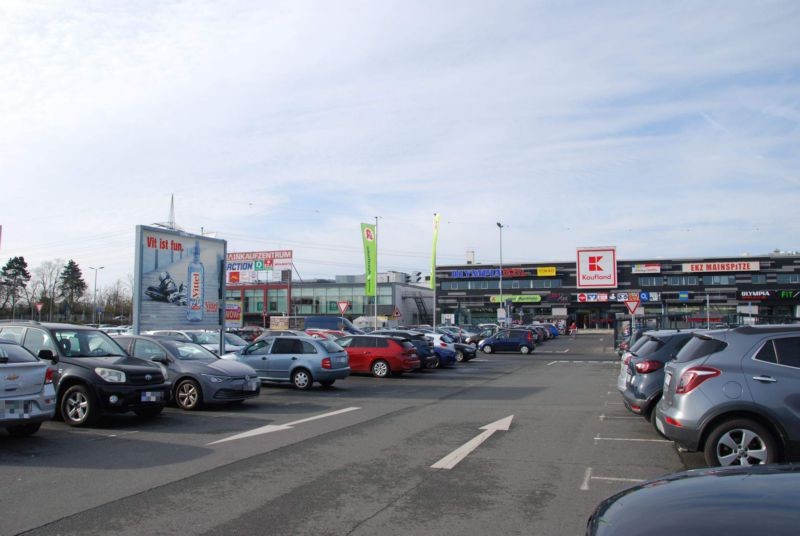
[[[631,309],[663,327],[800,318],[797,254],[618,260],[616,269],[615,287],[588,290],[578,288],[575,261],[438,266],[437,312],[460,324],[508,314],[514,322],[568,319],[584,327],[610,326]]]

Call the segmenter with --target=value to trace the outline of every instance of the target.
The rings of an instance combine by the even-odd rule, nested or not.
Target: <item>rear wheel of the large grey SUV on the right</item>
[[[750,419],[719,424],[709,434],[703,449],[710,466],[760,465],[778,459],[778,444],[772,433]]]

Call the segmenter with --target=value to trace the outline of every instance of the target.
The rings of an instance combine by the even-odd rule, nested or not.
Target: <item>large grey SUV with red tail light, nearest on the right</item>
[[[800,326],[696,333],[667,364],[656,427],[709,465],[800,458]]]

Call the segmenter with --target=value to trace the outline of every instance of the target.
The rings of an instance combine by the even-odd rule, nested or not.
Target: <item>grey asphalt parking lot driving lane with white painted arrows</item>
[[[584,332],[151,421],[48,422],[0,440],[0,533],[581,534],[605,497],[702,466],[624,408],[618,371],[610,335]]]

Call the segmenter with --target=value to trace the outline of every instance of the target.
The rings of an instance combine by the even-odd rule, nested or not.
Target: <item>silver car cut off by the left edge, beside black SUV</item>
[[[13,436],[29,436],[53,418],[53,372],[49,363],[23,346],[0,339],[0,427]]]

